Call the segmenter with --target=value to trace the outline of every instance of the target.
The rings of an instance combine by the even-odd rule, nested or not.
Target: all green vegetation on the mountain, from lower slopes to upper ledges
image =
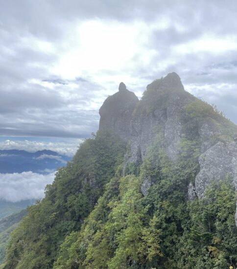
[[[136,113],[165,109],[167,92],[144,92]],[[185,91],[180,155],[167,156],[165,126],[145,158],[122,175],[124,144],[98,131],[60,168],[46,196],[28,208],[13,231],[1,269],[226,269],[237,267],[236,191],[233,179],[213,181],[203,199],[188,201],[188,186],[199,172],[204,122],[216,139],[232,141],[236,126]],[[226,131],[225,131],[226,129]],[[221,135],[220,135],[221,134]],[[151,187],[142,195],[142,183]]]

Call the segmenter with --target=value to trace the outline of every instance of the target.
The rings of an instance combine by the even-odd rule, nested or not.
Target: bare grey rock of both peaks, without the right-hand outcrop
[[[129,141],[129,150],[124,157],[123,174],[129,163],[141,162],[153,143],[157,128],[163,126],[167,144],[167,154],[175,161],[179,154],[178,144],[182,136],[180,121],[182,107],[190,100],[195,100],[184,90],[180,77],[170,73],[165,78],[156,80],[147,86],[164,97],[165,105],[157,106],[151,112],[133,113],[138,98],[120,83],[119,92],[109,96],[99,110],[99,129],[108,129]],[[142,102],[142,101],[140,101]],[[142,192],[149,187],[144,180]]]

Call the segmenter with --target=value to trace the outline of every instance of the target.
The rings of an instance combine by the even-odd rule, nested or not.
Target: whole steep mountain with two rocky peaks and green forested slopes
[[[237,126],[170,73],[119,85],[12,233],[4,269],[237,266]]]

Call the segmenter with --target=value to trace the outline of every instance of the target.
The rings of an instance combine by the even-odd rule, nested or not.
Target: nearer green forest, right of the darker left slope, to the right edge
[[[188,144],[183,142],[183,155],[175,167],[164,150],[154,146],[140,177],[111,179],[81,230],[62,244],[54,268],[224,269],[235,265],[232,180],[213,182],[205,199],[187,202],[187,184],[198,170],[194,161],[198,152],[187,151]],[[154,182],[146,197],[141,193],[144,176]]]

